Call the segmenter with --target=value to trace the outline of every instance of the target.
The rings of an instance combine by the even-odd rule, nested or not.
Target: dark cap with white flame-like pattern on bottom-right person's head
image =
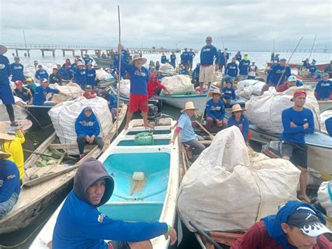
[[[300,208],[303,208],[303,210],[292,213],[287,219],[286,224],[298,227],[303,234],[312,237],[332,233],[332,231],[321,222],[319,217],[317,217],[314,210],[307,207]]]

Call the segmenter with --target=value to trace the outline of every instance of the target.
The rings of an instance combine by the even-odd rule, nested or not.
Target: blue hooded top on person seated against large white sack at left
[[[97,137],[100,133],[100,126],[96,115],[92,112],[91,116],[85,116],[85,107],[81,114],[78,115],[75,122],[75,131],[77,135],[88,135]]]

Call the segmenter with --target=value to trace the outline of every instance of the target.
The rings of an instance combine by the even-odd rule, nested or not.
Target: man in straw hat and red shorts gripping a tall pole
[[[123,45],[119,44],[118,50],[123,48]],[[129,127],[129,122],[132,119],[134,112],[141,110],[141,114],[144,120],[144,126],[152,128],[148,123],[148,69],[143,67],[146,63],[146,58],[141,58],[140,55],[135,54],[130,64],[122,62],[123,67],[130,75],[130,96],[129,107],[127,112],[127,119],[125,121],[125,130]]]

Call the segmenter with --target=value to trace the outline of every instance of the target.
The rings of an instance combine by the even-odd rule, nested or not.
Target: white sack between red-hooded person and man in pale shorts
[[[195,93],[191,78],[188,75],[174,75],[170,77],[164,77],[161,80],[171,95],[181,95],[185,93]],[[165,91],[161,91],[165,95]]]

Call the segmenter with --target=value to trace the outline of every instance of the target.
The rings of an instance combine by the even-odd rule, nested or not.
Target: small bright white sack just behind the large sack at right
[[[256,79],[246,79],[237,83],[237,90],[235,90],[235,94],[249,100],[253,97],[253,95],[259,95],[264,85],[265,83],[262,81],[257,81]]]

